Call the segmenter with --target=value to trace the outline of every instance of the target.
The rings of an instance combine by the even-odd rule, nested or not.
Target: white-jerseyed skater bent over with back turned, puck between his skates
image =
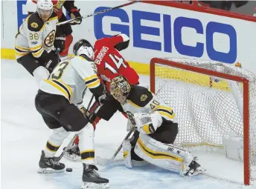
[[[93,62],[93,49],[86,40],[74,44],[74,58],[57,64],[48,79],[44,79],[36,95],[36,110],[42,115],[45,124],[53,130],[39,161],[39,173],[64,171],[65,165],[54,159],[54,154],[70,132],[77,132],[80,138],[79,150],[83,163],[82,188],[108,188],[108,179],[96,172],[94,127],[78,105],[83,102],[86,87],[99,98],[106,100],[105,87],[97,77]]]

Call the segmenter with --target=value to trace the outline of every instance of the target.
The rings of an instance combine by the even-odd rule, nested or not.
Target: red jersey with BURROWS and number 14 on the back
[[[111,38],[103,38],[95,42],[95,64],[97,73],[107,82],[119,75],[127,78],[130,84],[138,84],[138,74],[124,60],[123,56],[116,50],[115,46],[124,42],[128,42],[129,37],[125,34],[113,36]]]

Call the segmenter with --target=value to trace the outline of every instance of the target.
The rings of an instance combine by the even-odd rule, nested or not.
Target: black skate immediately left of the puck
[[[42,150],[37,173],[63,173],[64,171],[63,163],[57,162],[54,157],[45,157],[45,152]]]

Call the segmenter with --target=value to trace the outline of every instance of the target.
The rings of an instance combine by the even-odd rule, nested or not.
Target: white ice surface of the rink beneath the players
[[[148,83],[146,76],[141,76],[141,83]],[[57,174],[39,174],[38,162],[41,150],[45,147],[51,130],[46,127],[34,107],[37,92],[36,82],[26,70],[14,61],[1,60],[1,188],[48,188],[74,189],[82,185],[83,167],[80,162],[62,159],[66,168],[73,172]],[[109,159],[126,135],[127,121],[121,113],[116,113],[109,121],[100,121],[95,132],[96,156]],[[60,149],[63,149],[72,136],[68,136]],[[57,153],[57,156],[61,153]],[[119,153],[116,159],[122,159]],[[242,170],[240,162],[230,162],[212,154],[199,154],[199,160],[208,172],[219,177],[229,176],[239,179]],[[213,165],[212,162],[217,162]],[[231,167],[229,167],[231,166]],[[255,188],[213,179],[199,175],[191,178],[179,176],[177,173],[147,165],[128,169],[118,161],[107,168],[99,167],[100,176],[109,179],[110,188]]]

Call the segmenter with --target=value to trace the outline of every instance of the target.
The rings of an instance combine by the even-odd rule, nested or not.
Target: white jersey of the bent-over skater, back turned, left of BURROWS
[[[104,87],[96,73],[92,60],[74,56],[57,64],[49,78],[41,82],[39,89],[45,93],[65,96],[74,105],[80,105],[86,87],[95,96],[103,94]]]

